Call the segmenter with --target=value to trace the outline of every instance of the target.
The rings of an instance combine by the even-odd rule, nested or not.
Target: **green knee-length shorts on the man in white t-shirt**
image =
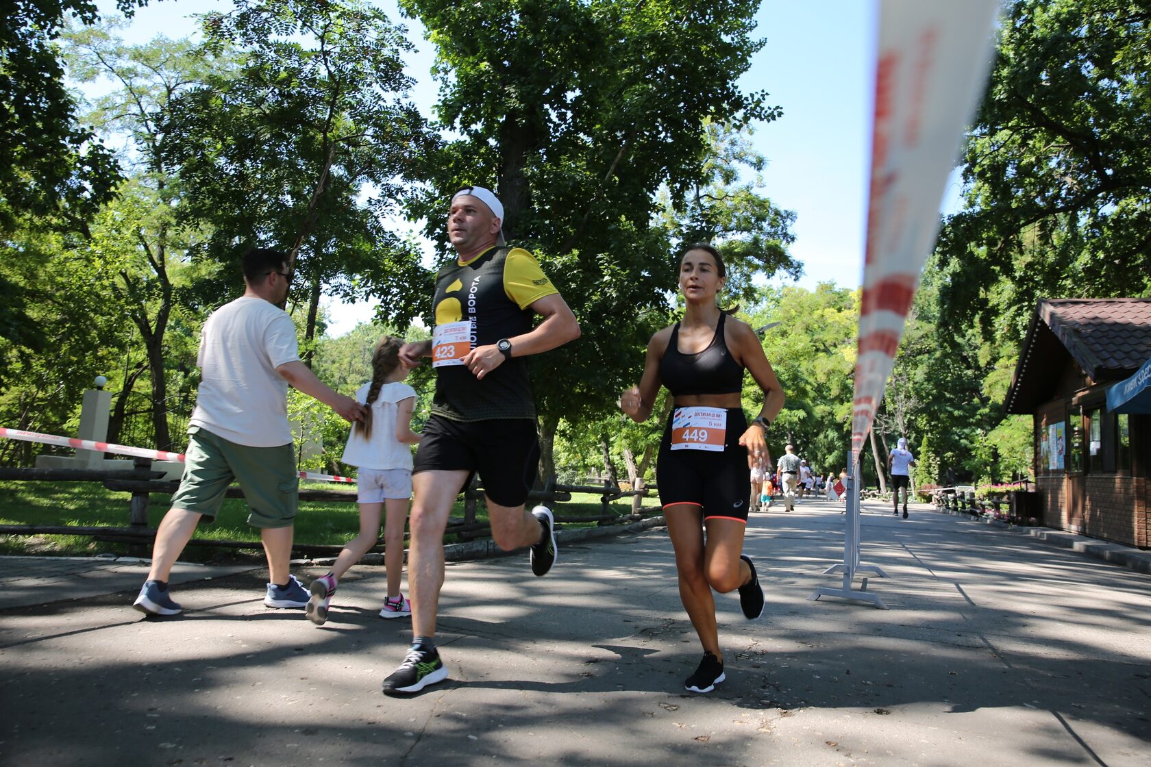
[[[287,528],[296,521],[299,475],[291,443],[276,447],[237,445],[199,427],[188,430],[184,476],[171,497],[171,508],[214,520],[228,485],[235,478],[256,528]]]

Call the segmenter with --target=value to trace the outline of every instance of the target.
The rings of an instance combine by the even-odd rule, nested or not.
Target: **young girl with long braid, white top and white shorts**
[[[359,535],[344,545],[331,570],[312,581],[307,620],[323,626],[336,584],[348,569],[376,544],[380,515],[384,508],[383,565],[388,574],[388,598],[380,618],[404,618],[412,606],[399,591],[404,569],[404,523],[412,497],[412,451],[420,435],[412,431],[416,390],[404,383],[409,368],[399,360],[403,340],[384,336],[372,350],[372,381],[356,391],[356,401],[368,408],[368,417],[352,427],[341,459],[359,467],[356,480],[359,501]]]

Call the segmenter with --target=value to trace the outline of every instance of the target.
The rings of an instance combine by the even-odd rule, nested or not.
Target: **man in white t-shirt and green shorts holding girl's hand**
[[[288,386],[314,397],[348,421],[364,407],[322,383],[299,359],[296,325],[280,308],[288,296],[288,255],[253,248],[244,255],[244,294],[204,323],[197,365],[200,385],[189,421],[188,452],[180,489],[155,532],[152,567],[134,607],[148,615],[175,615],[168,575],[200,517],[215,519],[233,480],[260,528],[268,559],[268,607],[307,605],[308,592],[289,573],[299,476],[288,425]]]

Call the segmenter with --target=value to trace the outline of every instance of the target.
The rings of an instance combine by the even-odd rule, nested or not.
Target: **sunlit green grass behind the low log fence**
[[[328,483],[302,482],[300,488],[331,490]],[[359,514],[355,503],[355,491],[349,489],[351,503],[346,501],[300,501],[296,516],[296,543],[342,545],[359,531]],[[0,524],[49,524],[49,526],[128,526],[128,499],[125,492],[105,489],[93,482],[0,482]],[[169,497],[153,493],[148,508],[148,526],[160,524],[168,511]],[[651,503],[650,500],[648,501]],[[559,504],[557,513],[564,516],[599,515],[600,497],[573,493],[571,503]],[[612,512],[620,515],[631,513],[631,499],[611,504]],[[463,517],[464,504],[457,501],[452,516]],[[487,520],[483,505],[477,509],[478,520]],[[212,524],[201,523],[196,538],[258,542],[259,530],[247,524],[247,505],[241,498],[229,498]],[[594,523],[590,523],[594,524]],[[569,523],[566,527],[578,527]],[[455,542],[448,536],[447,543]],[[0,554],[52,554],[87,557],[98,553],[123,554],[125,543],[93,540],[89,536],[0,536]],[[219,559],[221,550],[192,546],[189,559]]]

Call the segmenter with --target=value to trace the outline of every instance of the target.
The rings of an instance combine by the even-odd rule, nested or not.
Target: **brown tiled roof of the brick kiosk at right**
[[[1064,351],[1097,383],[1131,375],[1151,358],[1151,298],[1041,299],[1007,392],[1008,413],[1031,413],[1046,400]]]

